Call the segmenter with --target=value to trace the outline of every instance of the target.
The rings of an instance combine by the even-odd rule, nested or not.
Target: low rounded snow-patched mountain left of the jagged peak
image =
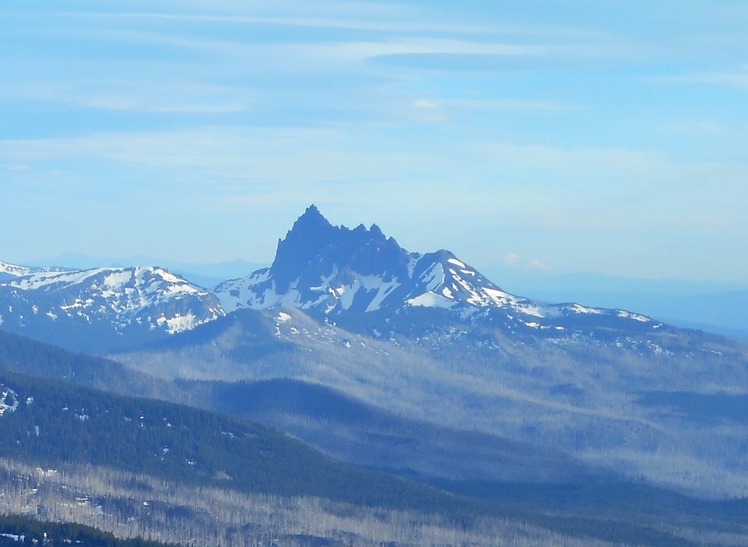
[[[2,328],[78,350],[145,343],[224,314],[210,291],[158,267],[6,271]]]

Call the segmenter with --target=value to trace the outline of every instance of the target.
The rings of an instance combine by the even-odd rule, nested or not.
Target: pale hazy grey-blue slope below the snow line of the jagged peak
[[[718,401],[748,385],[748,352],[740,343],[662,333],[656,352],[633,337],[621,347],[585,338],[560,344],[488,326],[469,330],[445,317],[428,319],[414,334],[390,321],[401,334],[382,339],[300,310],[243,310],[164,344],[113,357],[164,381],[317,384],[402,418],[534,445],[537,453],[563,452],[587,466],[645,476],[685,493],[748,492],[748,469],[736,449],[743,425],[692,419],[670,402],[678,393]],[[652,399],[647,394],[654,391],[672,393],[673,399]],[[263,419],[292,427],[284,412],[276,418],[269,413]],[[349,420],[341,412],[333,421],[345,428]],[[335,431],[322,427],[328,438]],[[417,442],[413,434],[404,438]],[[343,457],[344,449],[334,452],[332,442],[319,446]],[[479,442],[468,446],[482,450]],[[360,454],[359,463],[371,463],[366,458],[374,452],[362,448]],[[452,462],[453,471],[459,466],[459,460]]]

